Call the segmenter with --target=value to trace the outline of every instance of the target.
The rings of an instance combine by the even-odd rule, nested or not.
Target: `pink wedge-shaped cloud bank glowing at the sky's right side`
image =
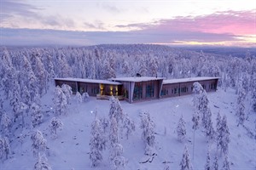
[[[194,31],[216,34],[255,34],[256,9],[250,11],[225,11],[197,17],[176,17],[152,23],[138,23],[126,27],[159,31]],[[125,27],[125,26],[119,26]]]

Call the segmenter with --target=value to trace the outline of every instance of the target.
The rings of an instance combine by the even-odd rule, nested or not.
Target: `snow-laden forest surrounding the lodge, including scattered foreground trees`
[[[63,126],[60,118],[69,103],[72,92],[70,87],[55,88],[55,98],[53,108],[56,117],[49,116],[43,111],[41,99],[49,92],[49,88],[54,86],[55,77],[77,77],[89,79],[108,79],[111,77],[135,77],[137,73],[148,77],[185,78],[185,77],[219,77],[218,88],[234,89],[237,95],[236,116],[237,126],[243,126],[247,119],[255,117],[256,114],[256,57],[247,51],[243,57],[231,55],[207,54],[171,48],[162,45],[96,45],[88,47],[65,47],[65,48],[1,48],[0,59],[0,162],[9,160],[13,155],[12,147],[18,143],[19,138],[14,134],[21,133],[23,129],[29,128],[33,131],[31,139],[33,141],[33,155],[38,157],[34,168],[47,169],[46,159],[41,156],[42,150],[46,150],[43,133],[37,130],[43,122],[50,119],[50,133],[53,139],[57,138],[57,129]],[[212,137],[212,127],[207,123],[211,122],[207,117],[211,115],[207,110],[207,97],[204,95],[200,84],[195,84],[195,100],[204,100],[205,103],[195,102],[195,108],[202,114],[202,126],[207,133],[207,138]],[[65,97],[63,95],[66,95]],[[89,99],[85,94],[76,94],[77,103]],[[62,96],[62,97],[61,97]],[[65,98],[65,104],[63,99]],[[66,101],[67,100],[67,101]],[[248,105],[246,105],[248,104]],[[112,111],[114,110],[114,111]],[[122,113],[118,115],[117,113]],[[117,115],[115,115],[117,114]],[[201,114],[201,113],[198,113]],[[253,116],[252,116],[253,115]],[[209,116],[211,117],[211,116]],[[154,150],[154,123],[150,121],[148,112],[141,115],[143,129],[143,141],[146,145],[145,154],[152,155]],[[196,122],[196,115],[193,116]],[[91,124],[94,129],[92,135],[96,139],[91,139],[90,144],[95,145],[91,149],[90,160],[93,167],[102,160],[100,152],[106,147],[106,139],[100,138],[100,134],[108,127],[110,134],[110,159],[114,161],[115,169],[125,166],[125,158],[122,157],[123,146],[119,144],[116,133],[120,125],[125,128],[125,135],[128,136],[134,131],[135,125],[131,117],[122,112],[119,101],[111,99],[109,120],[95,119]],[[219,132],[224,131],[226,117],[219,118]],[[105,127],[102,126],[104,125]],[[256,128],[256,120],[253,120]],[[102,125],[101,125],[102,124]],[[211,123],[210,123],[211,124]],[[177,127],[178,139],[183,141],[183,120],[179,120]],[[195,130],[196,130],[195,123]],[[149,129],[149,130],[148,130]],[[122,129],[124,131],[124,129]],[[217,130],[216,130],[217,131]],[[248,129],[251,137],[256,139],[255,131]],[[114,135],[116,134],[116,135]],[[219,134],[225,136],[226,134]],[[223,141],[229,141],[225,136],[218,140],[222,152],[227,152]],[[94,143],[95,141],[101,143]],[[227,144],[226,144],[227,145]],[[41,151],[40,151],[41,150]],[[152,151],[153,150],[153,151]],[[184,150],[184,161],[187,148]],[[118,163],[117,163],[118,162]],[[186,162],[181,163],[181,169],[191,169]],[[42,167],[42,165],[44,165]],[[40,167],[41,166],[41,167]],[[186,167],[187,166],[187,167]],[[169,167],[166,167],[168,169]],[[50,169],[50,167],[49,167]],[[218,168],[217,168],[218,169]],[[229,169],[225,167],[225,169]]]

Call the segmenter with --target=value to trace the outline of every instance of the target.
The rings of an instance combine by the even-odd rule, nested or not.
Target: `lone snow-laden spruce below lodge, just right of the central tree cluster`
[[[142,139],[145,143],[145,155],[152,155],[153,147],[155,143],[154,127],[155,124],[151,120],[148,112],[142,112],[141,116],[141,128],[143,129]]]

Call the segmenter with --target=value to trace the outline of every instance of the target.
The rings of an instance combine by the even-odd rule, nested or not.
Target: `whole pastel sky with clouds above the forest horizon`
[[[0,0],[0,45],[256,47],[255,0]]]

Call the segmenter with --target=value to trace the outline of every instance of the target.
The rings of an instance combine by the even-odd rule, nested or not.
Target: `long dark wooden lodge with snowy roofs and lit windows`
[[[192,94],[194,82],[200,82],[207,92],[214,92],[217,90],[218,77],[119,77],[109,80],[55,78],[55,86],[67,84],[73,93],[87,92],[97,99],[109,99],[113,95],[129,103]]]

